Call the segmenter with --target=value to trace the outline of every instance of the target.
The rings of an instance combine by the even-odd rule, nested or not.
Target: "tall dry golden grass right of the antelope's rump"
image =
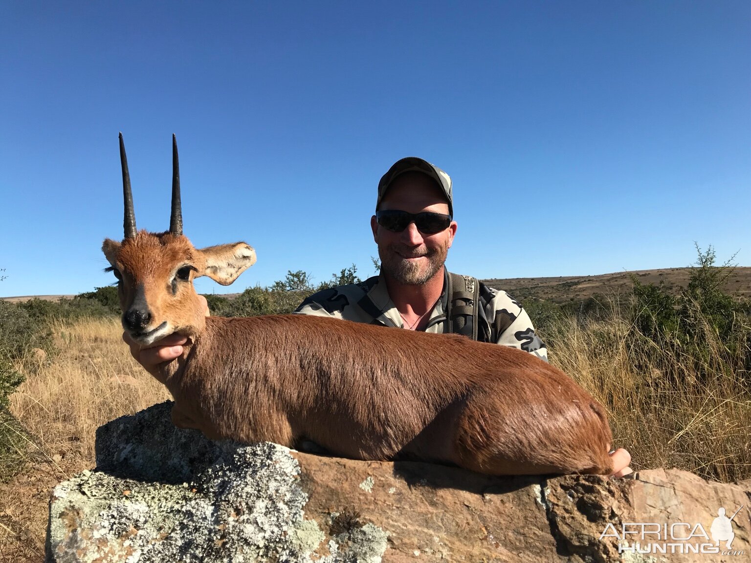
[[[556,326],[550,358],[608,408],[614,441],[635,469],[677,467],[732,482],[751,478],[751,375],[708,329],[708,360],[641,339],[613,303],[612,318]]]

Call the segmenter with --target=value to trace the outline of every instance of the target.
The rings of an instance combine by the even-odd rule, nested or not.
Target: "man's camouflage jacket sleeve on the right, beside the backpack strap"
[[[487,323],[493,327],[496,343],[519,348],[547,362],[547,348],[542,342],[532,319],[513,297],[505,291],[481,285],[480,300],[484,304]]]

